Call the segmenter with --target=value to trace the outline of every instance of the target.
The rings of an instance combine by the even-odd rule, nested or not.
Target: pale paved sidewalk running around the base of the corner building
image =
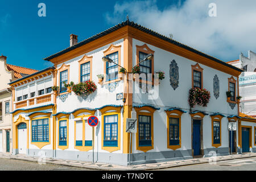
[[[242,159],[242,158],[252,158],[256,156],[256,153],[247,154],[235,154],[226,156],[217,156],[216,162],[224,160]],[[17,160],[27,160],[31,162],[49,163],[49,164],[59,164],[69,167],[81,167],[94,170],[108,170],[108,171],[137,171],[137,170],[154,170],[163,169],[179,166],[188,166],[193,164],[208,163],[210,158],[197,158],[197,159],[187,159],[187,160],[172,160],[170,162],[160,162],[152,164],[139,164],[133,166],[119,166],[115,164],[105,164],[105,163],[92,163],[92,162],[79,162],[77,160],[63,160],[63,159],[52,159],[46,158],[44,160],[39,157],[26,156],[22,154],[10,155],[0,152],[0,158],[6,159],[17,159]]]

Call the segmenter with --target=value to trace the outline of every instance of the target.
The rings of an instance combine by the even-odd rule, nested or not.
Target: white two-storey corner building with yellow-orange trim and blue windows
[[[129,20],[79,43],[72,34],[70,44],[44,59],[54,67],[10,83],[14,154],[81,161],[94,156],[94,162],[127,165],[127,118],[138,120],[131,137],[131,164],[228,155],[231,145],[233,152],[247,152],[242,148],[242,119],[253,121],[250,141],[243,147],[255,151],[255,119],[240,114],[236,99],[242,69]],[[149,75],[118,74],[121,67],[106,60],[127,72],[139,64]],[[166,73],[160,83],[157,75],[150,75],[159,71]],[[96,83],[94,92],[77,91],[78,83],[90,81]],[[65,85],[72,82],[72,89]],[[59,86],[59,92],[51,86]],[[191,88],[209,90],[207,106],[189,106]],[[228,90],[234,96],[230,101]],[[28,98],[19,101],[24,94]],[[92,115],[100,121],[94,130],[88,125]],[[229,122],[237,126],[233,142]]]

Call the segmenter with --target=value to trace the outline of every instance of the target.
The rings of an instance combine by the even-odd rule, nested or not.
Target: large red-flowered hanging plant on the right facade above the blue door
[[[193,88],[189,90],[188,103],[190,107],[201,105],[207,107],[210,101],[210,92],[206,89]]]

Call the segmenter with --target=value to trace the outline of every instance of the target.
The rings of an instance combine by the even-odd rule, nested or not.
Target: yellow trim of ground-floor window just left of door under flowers
[[[172,111],[166,111],[166,114],[167,114],[167,148],[170,148],[171,150],[177,150],[178,148],[181,148],[181,115],[183,114],[183,112],[180,110],[172,110]],[[180,139],[179,145],[175,145],[175,146],[170,145],[170,118],[179,118],[179,139]]]

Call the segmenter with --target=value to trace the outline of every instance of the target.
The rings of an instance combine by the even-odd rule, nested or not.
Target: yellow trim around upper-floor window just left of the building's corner
[[[118,63],[117,64],[121,65],[121,47],[122,47],[121,45],[120,46],[114,46],[113,44],[111,44],[109,46],[109,48],[106,49],[106,51],[103,52],[104,56],[108,56],[108,55],[110,55],[114,52],[118,52]],[[120,67],[118,67],[118,73],[119,73],[119,70],[120,70]],[[115,80],[106,81],[106,63],[105,62],[104,62],[104,75],[105,75],[104,85],[105,84],[110,84],[111,82],[116,82],[116,81],[120,80],[119,78],[117,78]]]

